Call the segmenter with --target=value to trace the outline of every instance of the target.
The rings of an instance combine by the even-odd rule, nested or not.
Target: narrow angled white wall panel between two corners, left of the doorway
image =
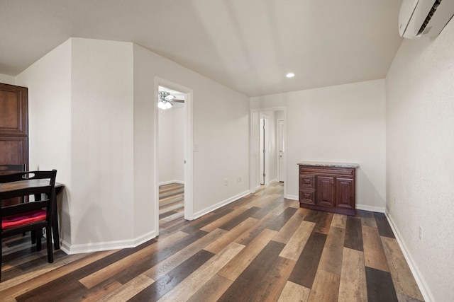
[[[131,245],[132,43],[73,38],[71,98],[72,242]]]

